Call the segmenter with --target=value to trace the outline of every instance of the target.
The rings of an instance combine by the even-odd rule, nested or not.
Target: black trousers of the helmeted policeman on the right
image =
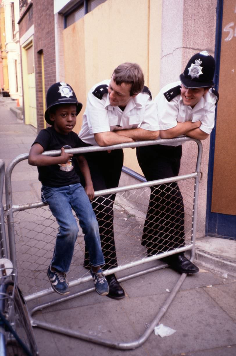
[[[147,181],[178,176],[181,145],[138,147],[136,152]],[[184,245],[184,203],[176,182],[150,188],[142,245],[154,255]]]

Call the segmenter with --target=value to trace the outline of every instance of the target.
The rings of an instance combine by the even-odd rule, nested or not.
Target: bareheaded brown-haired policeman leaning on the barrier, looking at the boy
[[[136,63],[120,64],[112,78],[94,85],[89,91],[79,138],[85,146],[109,146],[124,142],[155,140],[159,136],[157,110],[144,86],[144,75]],[[92,152],[87,159],[94,190],[118,187],[123,166],[123,151]],[[105,258],[103,269],[117,266],[113,232],[115,194],[92,201]],[[87,254],[85,255],[87,257]],[[84,267],[88,267],[87,258]],[[107,276],[108,297],[124,298],[124,290],[115,274]]]

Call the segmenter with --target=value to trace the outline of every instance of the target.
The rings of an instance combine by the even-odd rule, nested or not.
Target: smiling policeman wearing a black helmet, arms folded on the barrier
[[[207,51],[190,58],[180,82],[170,83],[155,98],[160,138],[186,135],[205,140],[214,127],[215,105],[219,94],[212,88],[215,59]],[[181,143],[137,148],[137,158],[145,178],[150,180],[178,176]],[[184,203],[176,182],[151,187],[142,245],[148,255],[184,246]],[[184,253],[165,257],[180,273],[199,271]]]

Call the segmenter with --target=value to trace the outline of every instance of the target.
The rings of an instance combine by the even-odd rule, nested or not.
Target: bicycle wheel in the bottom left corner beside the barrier
[[[30,354],[32,356],[38,356],[39,354],[25,299],[17,286],[14,290],[14,283],[12,281],[7,282],[6,295],[9,296],[5,299],[5,315],[7,316],[7,320],[30,352],[24,350],[24,346],[16,341],[10,331],[7,331],[7,356],[25,356]]]

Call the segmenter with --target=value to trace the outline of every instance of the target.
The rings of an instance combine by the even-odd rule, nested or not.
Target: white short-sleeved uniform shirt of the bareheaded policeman
[[[97,146],[94,133],[98,132],[136,129],[137,127],[158,131],[156,105],[148,93],[142,92],[134,98],[130,97],[124,111],[119,106],[110,104],[108,93],[103,94],[101,100],[92,94],[99,85],[106,84],[108,87],[110,81],[111,79],[103,80],[89,91],[79,138],[85,143]]]

